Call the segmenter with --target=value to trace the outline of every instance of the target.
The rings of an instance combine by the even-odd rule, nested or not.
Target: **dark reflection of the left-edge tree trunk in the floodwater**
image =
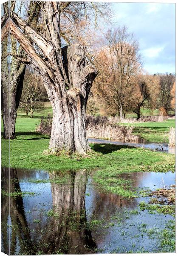
[[[1,221],[3,223],[2,233],[2,245],[3,251],[7,253],[9,251],[11,255],[15,254],[17,244],[20,245],[20,251],[23,253],[31,254],[31,239],[28,224],[25,218],[25,212],[23,207],[23,198],[21,195],[21,189],[19,180],[17,178],[17,170],[10,169],[10,215],[9,215],[9,168],[1,169]],[[10,226],[10,227],[9,227]],[[10,248],[9,248],[9,233],[10,233]],[[8,238],[8,239],[7,239]],[[7,245],[8,244],[8,245]],[[7,249],[8,247],[8,249]],[[9,253],[8,253],[9,254]]]

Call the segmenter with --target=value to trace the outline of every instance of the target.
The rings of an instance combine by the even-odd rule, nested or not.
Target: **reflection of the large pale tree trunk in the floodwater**
[[[59,179],[56,172],[49,173],[51,180]],[[66,184],[51,183],[54,215],[51,218],[45,240],[51,246],[45,253],[60,250],[62,253],[93,253],[96,247],[87,227],[85,191],[88,175],[85,170],[70,172]],[[60,236],[59,236],[60,234]],[[60,245],[60,248],[59,248]]]

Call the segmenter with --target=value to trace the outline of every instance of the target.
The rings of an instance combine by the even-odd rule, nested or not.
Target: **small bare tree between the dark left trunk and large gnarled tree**
[[[25,111],[26,116],[30,113],[31,118],[35,111],[42,111],[44,109],[42,100],[45,97],[45,93],[41,77],[34,73],[34,70],[31,72],[29,69],[26,69],[20,99],[20,108]]]

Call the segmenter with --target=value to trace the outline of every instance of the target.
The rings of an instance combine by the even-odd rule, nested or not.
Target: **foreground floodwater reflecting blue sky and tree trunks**
[[[154,190],[175,184],[175,173],[131,173],[132,187]],[[11,214],[8,212],[8,169],[2,168],[1,249],[11,255],[124,253],[159,248],[149,230],[165,228],[171,215],[150,214],[140,201],[106,194],[92,172],[47,172],[11,169]],[[131,214],[137,210],[135,214]]]

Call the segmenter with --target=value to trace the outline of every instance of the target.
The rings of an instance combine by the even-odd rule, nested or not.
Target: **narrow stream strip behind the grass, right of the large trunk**
[[[128,145],[131,147],[138,148],[148,148],[154,151],[161,151],[170,154],[175,154],[175,147],[167,146],[166,143],[152,143],[152,142],[144,142],[144,143],[136,143],[136,142],[121,142],[116,140],[100,140],[100,139],[88,139],[89,143],[109,143],[116,145]]]

